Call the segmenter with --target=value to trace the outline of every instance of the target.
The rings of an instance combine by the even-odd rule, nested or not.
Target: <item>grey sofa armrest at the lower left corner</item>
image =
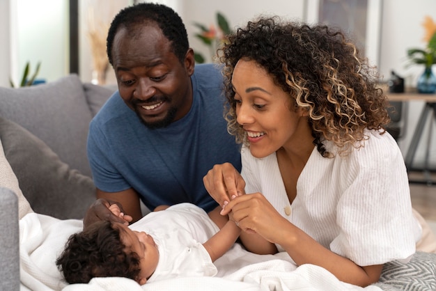
[[[0,290],[20,290],[18,199],[0,187]]]

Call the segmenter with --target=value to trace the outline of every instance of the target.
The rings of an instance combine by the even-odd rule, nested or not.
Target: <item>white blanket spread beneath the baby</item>
[[[381,290],[343,283],[316,265],[296,267],[286,253],[256,255],[244,251],[239,244],[215,262],[215,277],[173,278],[142,286],[128,278],[107,277],[93,278],[88,284],[67,285],[55,262],[68,237],[81,229],[82,221],[76,219],[62,221],[36,213],[20,219],[21,290]]]

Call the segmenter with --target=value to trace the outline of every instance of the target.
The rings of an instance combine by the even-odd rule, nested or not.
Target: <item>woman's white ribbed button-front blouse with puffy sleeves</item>
[[[325,158],[314,148],[292,205],[275,152],[257,159],[242,148],[246,193],[262,193],[288,221],[357,265],[407,260],[421,227],[412,215],[403,156],[388,133],[366,134],[364,147],[347,156]],[[326,148],[336,152],[332,143]]]

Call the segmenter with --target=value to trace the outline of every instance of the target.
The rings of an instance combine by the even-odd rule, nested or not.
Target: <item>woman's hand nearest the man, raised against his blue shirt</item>
[[[224,207],[233,196],[245,194],[245,181],[230,163],[213,166],[203,177],[203,183],[210,196]]]

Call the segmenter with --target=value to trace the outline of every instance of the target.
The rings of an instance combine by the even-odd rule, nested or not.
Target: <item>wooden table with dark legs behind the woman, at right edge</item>
[[[388,92],[388,91],[385,91]],[[426,176],[426,180],[414,180],[410,182],[423,183],[423,184],[434,184],[433,180],[430,177],[430,168],[428,168],[428,157],[430,150],[430,140],[433,134],[431,118],[430,118],[430,127],[428,129],[428,143],[426,145],[426,161],[424,162],[423,168],[413,168],[413,159],[416,154],[416,149],[419,146],[419,141],[421,140],[423,130],[426,126],[426,122],[428,121],[428,116],[431,114],[433,118],[436,120],[436,94],[421,94],[416,93],[416,91],[406,91],[405,93],[387,93],[387,97],[389,101],[401,101],[401,102],[409,102],[409,101],[423,101],[426,102],[425,106],[421,111],[421,116],[419,117],[418,123],[416,124],[414,134],[412,136],[412,141],[410,142],[410,146],[407,149],[407,154],[405,157],[405,165],[407,167],[407,172],[409,171],[423,171]]]

